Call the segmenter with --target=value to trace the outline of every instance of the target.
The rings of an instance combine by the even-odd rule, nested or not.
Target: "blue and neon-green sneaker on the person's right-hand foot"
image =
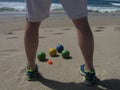
[[[84,77],[84,81],[87,86],[92,86],[95,84],[95,71],[85,70],[85,64],[80,66],[79,71],[80,74]]]

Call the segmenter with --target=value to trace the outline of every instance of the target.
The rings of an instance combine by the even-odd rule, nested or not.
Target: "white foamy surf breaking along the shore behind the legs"
[[[116,6],[116,7],[115,7]],[[25,12],[24,2],[0,2],[0,12]],[[50,12],[64,11],[63,7],[59,3],[52,3]],[[112,3],[111,7],[99,6],[99,5],[88,5],[89,12],[120,12],[120,3]]]

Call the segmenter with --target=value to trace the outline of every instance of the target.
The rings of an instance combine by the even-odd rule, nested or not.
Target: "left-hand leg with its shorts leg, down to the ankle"
[[[26,0],[25,51],[30,69],[35,67],[40,22],[49,16],[51,0]]]

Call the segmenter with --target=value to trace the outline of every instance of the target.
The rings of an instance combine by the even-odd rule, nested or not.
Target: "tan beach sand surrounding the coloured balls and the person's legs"
[[[36,59],[42,77],[35,82],[25,79],[25,17],[0,17],[0,90],[120,90],[120,16],[89,14],[88,19],[95,40],[94,66],[101,80],[92,87],[84,85],[78,72],[83,56],[75,27],[66,15],[51,15],[41,24],[38,52],[44,51],[53,64]],[[57,44],[70,51],[70,59],[59,53],[58,57],[48,55]]]

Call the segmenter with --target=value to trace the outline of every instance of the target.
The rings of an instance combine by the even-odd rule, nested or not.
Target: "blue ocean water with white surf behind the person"
[[[0,0],[0,13],[25,13],[25,0]],[[52,0],[50,12],[64,11],[59,0]],[[120,0],[88,0],[88,11],[120,12]]]

